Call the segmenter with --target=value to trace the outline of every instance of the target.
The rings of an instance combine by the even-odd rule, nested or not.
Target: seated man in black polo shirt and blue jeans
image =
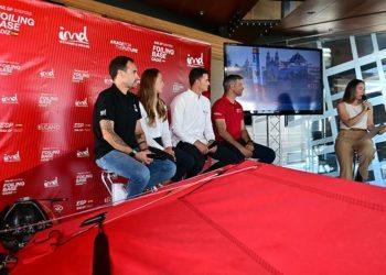
[[[129,179],[129,198],[173,177],[175,165],[148,157],[139,101],[129,92],[139,84],[133,59],[117,56],[110,62],[109,73],[114,84],[99,94],[94,106],[95,156],[99,167]]]

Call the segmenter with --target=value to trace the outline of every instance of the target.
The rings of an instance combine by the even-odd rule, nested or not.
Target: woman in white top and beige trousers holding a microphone
[[[367,130],[374,128],[373,107],[363,100],[365,82],[353,79],[347,84],[342,100],[337,103],[340,133],[335,141],[335,152],[341,167],[340,177],[353,179],[353,154],[358,156],[358,178],[366,182],[368,166],[374,157],[374,144]]]

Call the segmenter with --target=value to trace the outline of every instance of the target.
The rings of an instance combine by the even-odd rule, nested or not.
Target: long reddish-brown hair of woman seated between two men
[[[149,118],[149,125],[156,124],[156,117],[160,117],[163,121],[167,120],[167,105],[160,99],[157,90],[154,88],[156,80],[160,70],[157,68],[146,69],[141,75],[141,87],[139,89],[138,96],[139,100],[143,105],[146,112]],[[154,109],[156,106],[156,109]]]

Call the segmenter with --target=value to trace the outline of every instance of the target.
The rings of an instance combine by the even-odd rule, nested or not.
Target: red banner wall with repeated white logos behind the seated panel
[[[22,197],[57,199],[56,217],[110,201],[92,112],[115,56],[159,68],[167,102],[192,67],[211,66],[210,44],[42,1],[2,0],[0,37],[0,210]]]

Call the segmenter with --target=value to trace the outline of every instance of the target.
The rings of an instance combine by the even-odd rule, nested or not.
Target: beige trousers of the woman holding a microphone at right
[[[341,130],[335,141],[335,154],[341,168],[340,177],[353,179],[353,154],[358,156],[358,172],[363,180],[368,178],[368,165],[374,157],[373,141],[363,130]]]

